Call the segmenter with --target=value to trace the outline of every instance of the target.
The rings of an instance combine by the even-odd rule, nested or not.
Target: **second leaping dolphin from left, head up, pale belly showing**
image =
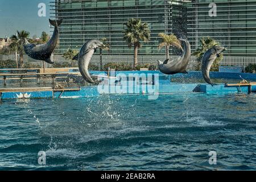
[[[101,46],[104,46],[104,44],[100,40],[89,40],[84,44],[84,46],[82,46],[79,52],[79,70],[86,82],[94,83],[94,81],[90,77],[88,66],[90,63],[90,59],[93,56],[93,53],[96,52],[97,48]]]

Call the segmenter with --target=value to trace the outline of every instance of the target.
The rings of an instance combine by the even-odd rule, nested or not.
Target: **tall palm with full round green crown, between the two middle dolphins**
[[[125,36],[123,39],[128,43],[129,48],[134,46],[134,63],[133,68],[138,65],[138,49],[142,47],[141,41],[148,42],[150,40],[150,29],[147,23],[143,23],[141,19],[129,19],[124,23],[126,30],[123,31]]]

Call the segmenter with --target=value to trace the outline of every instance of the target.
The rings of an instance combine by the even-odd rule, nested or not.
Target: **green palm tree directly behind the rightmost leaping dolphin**
[[[198,61],[197,65],[196,65],[197,70],[200,70],[201,60],[204,56],[204,53],[207,52],[208,49],[212,48],[213,46],[221,46],[220,43],[218,43],[216,40],[214,40],[213,38],[210,38],[210,37],[204,37],[204,38],[200,39],[200,44],[201,44],[200,47],[198,49],[196,49],[195,52],[192,53],[192,56],[197,57],[197,61]],[[223,58],[223,54],[220,53],[220,57],[217,57],[217,59],[214,61],[210,71],[218,71],[218,65],[222,58]]]

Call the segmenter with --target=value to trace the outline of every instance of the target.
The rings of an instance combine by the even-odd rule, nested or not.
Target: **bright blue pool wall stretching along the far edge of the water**
[[[100,75],[105,74],[106,72],[90,72],[92,75]],[[211,86],[209,84],[182,84],[182,83],[175,83],[171,82],[172,77],[183,77],[183,78],[202,78],[201,72],[189,72],[188,74],[176,74],[176,75],[163,75],[159,71],[122,71],[122,72],[115,72],[115,76],[118,74],[122,75],[129,75],[129,74],[159,74],[159,86],[151,86],[152,89],[155,90],[156,93],[159,94],[168,94],[168,93],[207,93],[207,94],[227,94],[227,93],[238,93],[241,91],[242,93],[247,93],[247,87],[241,87],[239,90],[236,87],[225,87],[225,84],[218,84],[216,86]],[[211,78],[223,78],[223,79],[234,79],[234,80],[241,80],[240,78],[243,77],[246,80],[256,81],[256,74],[250,73],[222,73],[222,72],[211,72]],[[135,86],[130,86],[129,89],[135,91]],[[109,85],[109,93],[110,94],[117,94],[112,93],[110,90],[115,90],[115,85]],[[138,92],[133,92],[134,94],[148,94],[150,90],[139,86]],[[256,86],[252,87],[252,91],[256,92]],[[97,97],[100,96],[98,92],[97,86],[84,86],[81,87],[79,91],[71,91],[71,92],[52,92],[52,91],[43,91],[43,92],[26,92],[30,95],[30,98],[82,98],[82,97]],[[22,93],[25,94],[25,93]],[[120,94],[127,94],[127,93],[120,93]],[[10,99],[10,98],[17,98],[20,95],[20,92],[10,92],[10,93],[2,93],[2,99]]]

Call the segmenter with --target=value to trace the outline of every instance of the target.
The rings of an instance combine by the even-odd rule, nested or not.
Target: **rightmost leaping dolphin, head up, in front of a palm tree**
[[[226,48],[222,46],[213,46],[207,52],[204,53],[203,59],[201,61],[201,71],[205,82],[210,85],[216,85],[210,81],[210,67],[212,67],[213,62],[217,57],[220,57],[220,53],[226,51]]]

